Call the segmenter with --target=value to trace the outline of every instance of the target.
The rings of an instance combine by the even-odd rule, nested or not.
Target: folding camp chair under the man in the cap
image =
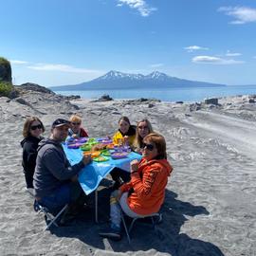
[[[43,212],[45,214],[45,220],[46,220],[46,229],[49,229],[51,227],[52,224],[54,224],[56,227],[59,227],[57,224],[57,220],[58,218],[62,215],[62,213],[64,212],[64,210],[66,210],[67,208],[67,204],[64,206],[64,208],[62,210],[60,210],[55,216],[50,213],[49,210],[47,210],[46,207],[42,206],[36,199],[35,199],[35,195],[34,195],[34,190],[33,189],[27,189],[27,192],[30,194],[30,196],[33,197],[34,199],[34,210],[38,213]]]

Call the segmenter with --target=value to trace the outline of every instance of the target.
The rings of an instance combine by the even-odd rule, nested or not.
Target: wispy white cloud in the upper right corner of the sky
[[[231,21],[230,24],[256,22],[256,9],[247,7],[221,7],[218,11],[223,11],[226,15],[235,19]]]

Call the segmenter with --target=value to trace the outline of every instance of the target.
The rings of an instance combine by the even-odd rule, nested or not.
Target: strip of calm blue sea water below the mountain
[[[157,99],[160,101],[203,101],[206,98],[219,98],[256,94],[256,85],[236,85],[225,87],[193,87],[193,88],[150,88],[121,89],[121,90],[83,90],[83,91],[55,91],[65,96],[80,95],[83,99],[99,99],[102,95],[109,95],[113,99]]]

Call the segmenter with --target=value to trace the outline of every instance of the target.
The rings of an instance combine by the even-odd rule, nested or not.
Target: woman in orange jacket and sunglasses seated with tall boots
[[[111,227],[100,232],[102,237],[121,238],[121,210],[132,218],[143,217],[156,213],[164,202],[168,176],[173,171],[167,161],[165,139],[153,133],[143,142],[142,159],[131,162],[131,181],[111,193]]]

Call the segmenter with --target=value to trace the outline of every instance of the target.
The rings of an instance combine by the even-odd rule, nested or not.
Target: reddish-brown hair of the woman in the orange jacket
[[[143,142],[153,142],[157,149],[156,159],[167,159],[165,138],[159,134],[151,133],[144,137]]]

